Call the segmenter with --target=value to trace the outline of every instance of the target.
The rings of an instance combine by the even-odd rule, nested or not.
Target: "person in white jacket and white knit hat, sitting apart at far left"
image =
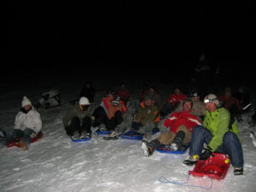
[[[21,107],[15,117],[15,127],[5,137],[4,144],[20,137],[20,147],[28,150],[31,139],[42,129],[42,119],[26,96],[22,99]]]

